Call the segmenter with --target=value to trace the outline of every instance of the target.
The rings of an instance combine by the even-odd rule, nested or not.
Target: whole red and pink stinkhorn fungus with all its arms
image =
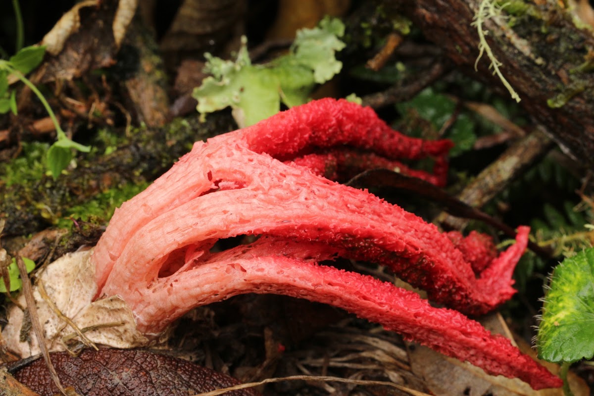
[[[485,313],[510,298],[527,227],[519,227],[516,244],[498,257],[489,239],[441,234],[400,207],[308,169],[322,171],[325,157],[316,150],[340,145],[374,151],[386,161],[436,157],[437,182],[444,180],[451,147],[449,141],[407,138],[371,109],[331,99],[197,142],[116,211],[93,254],[99,295],[121,296],[138,329],[154,333],[195,306],[242,293],[287,294],[339,306],[535,389],[560,387],[559,378],[508,340],[458,312]],[[308,154],[315,160],[303,160]],[[237,235],[261,237],[210,252],[216,240]],[[385,264],[458,311],[317,264],[336,256]]]

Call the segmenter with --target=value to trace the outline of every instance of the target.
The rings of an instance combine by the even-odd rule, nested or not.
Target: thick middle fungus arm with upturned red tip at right
[[[222,150],[209,143],[192,153],[196,166],[210,169],[211,179],[241,183],[241,188],[201,195],[150,220],[116,258],[103,293],[118,293],[139,276],[154,280],[176,249],[236,235],[324,241],[343,249],[348,258],[388,265],[432,299],[467,313],[491,311],[514,293],[511,271],[526,248],[527,229],[511,253],[487,267],[488,278],[476,278],[470,263],[437,227],[366,191],[244,147]]]

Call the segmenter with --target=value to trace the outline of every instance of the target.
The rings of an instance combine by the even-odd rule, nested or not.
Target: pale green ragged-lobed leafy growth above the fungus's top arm
[[[315,84],[340,72],[342,62],[335,53],[345,47],[339,40],[344,33],[340,20],[324,18],[318,27],[299,30],[289,53],[266,65],[252,65],[245,37],[235,62],[205,54],[204,71],[212,77],[194,88],[198,112],[231,106],[233,117],[243,127],[279,112],[280,102],[288,107],[306,103]]]

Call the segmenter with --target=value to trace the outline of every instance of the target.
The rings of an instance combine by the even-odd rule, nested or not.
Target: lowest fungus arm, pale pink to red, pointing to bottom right
[[[236,255],[214,255],[198,267],[160,279],[144,289],[136,297],[138,328],[159,330],[154,324],[162,323],[165,313],[177,318],[190,308],[235,294],[284,294],[343,308],[397,331],[407,340],[481,366],[493,375],[517,376],[535,389],[561,385],[559,378],[520,353],[509,340],[492,335],[460,312],[433,308],[418,294],[368,275],[292,256],[324,256],[327,249],[323,245],[286,242],[287,247],[279,248],[285,242],[263,242],[266,245],[240,246],[235,249]],[[294,246],[292,251],[289,245]],[[271,255],[272,251],[283,254]],[[156,305],[154,301],[161,303]]]

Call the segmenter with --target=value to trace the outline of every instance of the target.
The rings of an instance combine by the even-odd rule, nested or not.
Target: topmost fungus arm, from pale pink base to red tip
[[[368,107],[346,100],[321,99],[296,106],[249,128],[238,129],[208,140],[218,147],[241,145],[255,153],[268,153],[283,160],[293,159],[302,151],[316,147],[351,145],[378,153],[387,159],[419,159],[435,156],[435,181],[443,184],[447,173],[445,155],[449,140],[425,141],[410,138],[391,129]],[[208,177],[208,159],[196,162],[204,142],[196,142],[191,153],[182,157],[165,175],[146,189],[142,197],[125,202],[116,210],[106,230],[105,240],[98,243],[94,257],[99,289],[111,271],[131,235],[144,224],[170,208],[184,204],[214,188]],[[224,150],[224,148],[223,148]]]

